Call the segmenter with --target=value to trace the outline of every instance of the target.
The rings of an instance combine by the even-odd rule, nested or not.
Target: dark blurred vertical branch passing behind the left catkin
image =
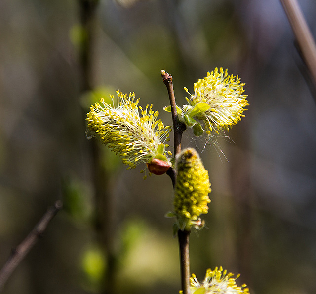
[[[93,90],[93,48],[95,45],[96,33],[96,12],[99,0],[78,0],[81,29],[83,32],[80,46],[80,66],[81,66],[81,93]],[[85,118],[85,111],[83,112]],[[102,150],[98,141],[91,140],[92,156],[92,177],[94,184],[94,229],[97,234],[97,241],[102,249],[107,265],[103,277],[104,284],[100,293],[111,294],[114,292],[113,276],[115,266],[115,255],[113,253],[113,233],[112,233],[112,197],[109,192],[109,178],[103,164]]]

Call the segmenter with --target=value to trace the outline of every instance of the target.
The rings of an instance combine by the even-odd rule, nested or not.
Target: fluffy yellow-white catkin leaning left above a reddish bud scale
[[[122,162],[128,169],[151,162],[157,153],[160,159],[169,163],[170,152],[161,148],[161,145],[165,146],[164,142],[169,141],[171,127],[164,126],[158,119],[159,112],[152,110],[153,105],[147,105],[143,110],[134,93],[127,96],[117,91],[117,96],[117,103],[111,96],[112,105],[105,103],[102,98],[99,103],[91,105],[86,118],[88,129],[103,144],[122,156]]]

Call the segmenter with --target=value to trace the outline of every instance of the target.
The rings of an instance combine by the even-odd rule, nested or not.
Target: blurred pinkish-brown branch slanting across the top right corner
[[[316,45],[296,0],[280,0],[316,88]]]

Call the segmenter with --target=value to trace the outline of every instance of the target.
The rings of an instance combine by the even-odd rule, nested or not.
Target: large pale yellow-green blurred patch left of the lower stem
[[[120,293],[129,287],[150,289],[157,281],[172,285],[178,279],[178,244],[140,218],[127,219],[120,233],[122,252],[118,274]]]

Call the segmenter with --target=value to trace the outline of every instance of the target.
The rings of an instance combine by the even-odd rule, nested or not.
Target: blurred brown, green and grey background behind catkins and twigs
[[[316,37],[316,1],[299,4]],[[227,160],[184,134],[212,183],[191,271],[222,265],[255,294],[316,293],[316,96],[279,0],[1,0],[0,267],[64,202],[4,294],[178,293],[169,177],[126,170],[87,140],[85,113],[134,91],[170,125],[160,71],[183,105],[183,87],[215,67],[240,76],[250,106],[217,139]]]

